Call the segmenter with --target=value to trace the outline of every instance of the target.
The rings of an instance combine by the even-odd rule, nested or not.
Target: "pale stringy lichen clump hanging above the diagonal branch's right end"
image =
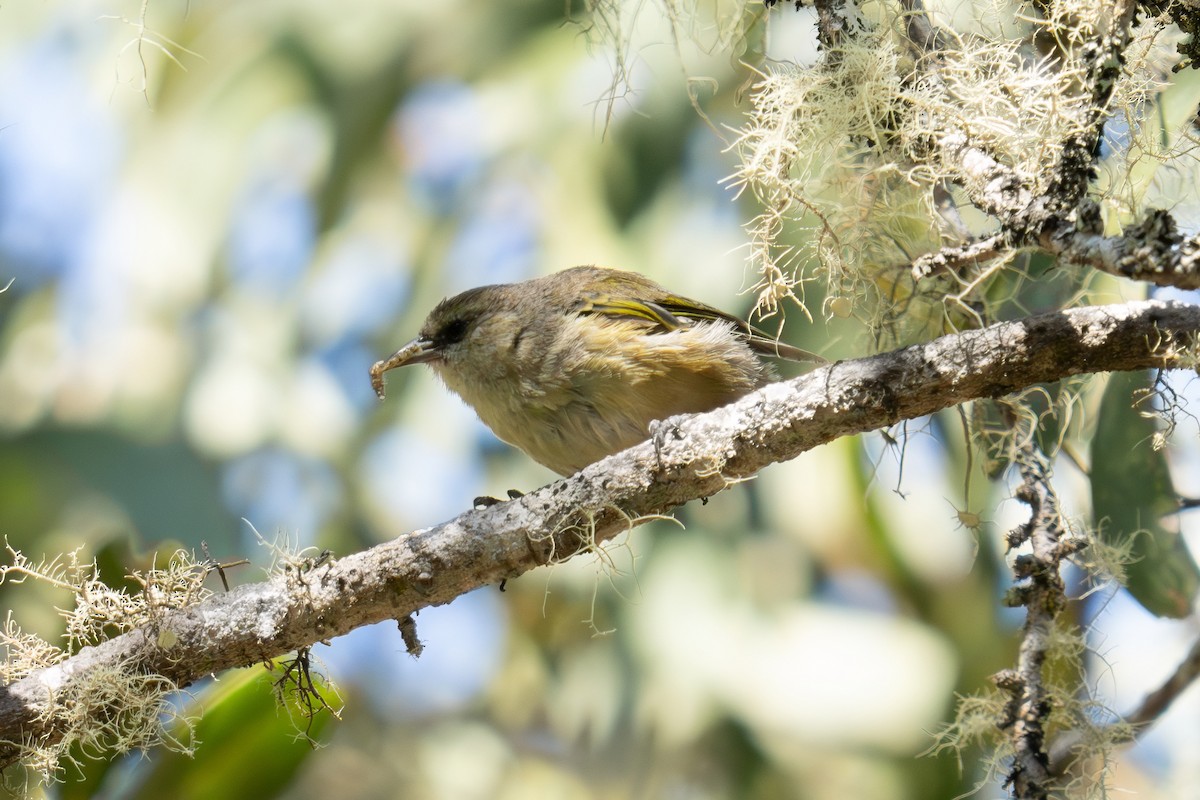
[[[749,229],[751,260],[774,293],[799,281],[780,277],[780,260],[832,278],[836,294],[870,299],[910,253],[928,253],[911,269],[918,294],[936,300],[946,284],[928,278],[950,273],[983,295],[989,264],[1030,248],[1160,285],[1200,283],[1195,242],[1175,234],[1166,212],[1114,201],[1105,213],[1120,213],[1126,230],[1105,236],[1112,231],[1087,197],[1105,125],[1121,113],[1138,128],[1153,98],[1144,50],[1158,25],[1135,29],[1133,0],[1037,4],[1024,38],[942,30],[920,0],[901,0],[890,30],[842,25],[832,37],[826,17],[836,8],[838,19],[852,18],[854,6],[826,6],[823,59],[769,73],[738,142],[734,182],[772,209]],[[1027,58],[1034,41],[1042,59]],[[1138,152],[1111,154],[1106,172],[1130,170]],[[958,213],[967,205],[989,217],[974,236]],[[814,236],[812,258],[800,261],[779,242],[782,222],[833,235]],[[890,296],[881,296],[884,317]],[[856,306],[877,323],[874,311]]]

